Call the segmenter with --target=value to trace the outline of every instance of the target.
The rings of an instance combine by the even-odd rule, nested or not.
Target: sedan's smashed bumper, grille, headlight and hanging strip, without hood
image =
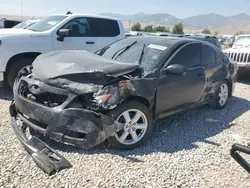
[[[37,137],[28,139],[27,128],[84,149],[102,143],[124,128],[108,116],[108,112],[135,95],[136,88],[131,80],[123,78],[106,86],[86,83],[75,86],[76,83],[70,82],[55,87],[36,79],[30,68],[25,70],[20,72],[13,87],[12,127],[36,164],[46,173],[58,172],[71,165]],[[81,88],[81,93],[70,88]]]

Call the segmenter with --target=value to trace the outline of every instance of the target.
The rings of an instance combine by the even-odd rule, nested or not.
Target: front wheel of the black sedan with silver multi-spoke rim
[[[153,130],[150,110],[137,101],[129,101],[109,112],[116,121],[124,124],[124,129],[118,131],[107,141],[117,149],[132,149],[141,146]]]

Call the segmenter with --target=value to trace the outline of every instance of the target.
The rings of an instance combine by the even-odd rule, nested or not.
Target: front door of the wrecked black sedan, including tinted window
[[[159,118],[193,107],[201,99],[205,89],[205,71],[200,58],[201,44],[192,43],[182,47],[166,63],[165,67],[183,65],[186,75],[161,73],[156,96],[156,115]]]

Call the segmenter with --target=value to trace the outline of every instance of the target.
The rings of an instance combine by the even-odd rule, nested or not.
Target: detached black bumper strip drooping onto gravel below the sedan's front
[[[10,106],[10,114],[12,116],[11,120],[14,133],[39,168],[45,173],[52,175],[63,169],[72,167],[69,161],[67,161],[62,155],[54,151],[37,137],[33,136],[31,139],[27,138],[25,132],[28,126],[24,124],[22,127],[19,127],[13,103]]]

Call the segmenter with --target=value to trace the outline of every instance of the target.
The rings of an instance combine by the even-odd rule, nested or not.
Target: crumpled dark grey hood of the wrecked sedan
[[[93,53],[56,51],[38,56],[33,74],[40,81],[61,88],[78,83],[105,85],[114,77],[136,70],[140,65],[106,59]]]

